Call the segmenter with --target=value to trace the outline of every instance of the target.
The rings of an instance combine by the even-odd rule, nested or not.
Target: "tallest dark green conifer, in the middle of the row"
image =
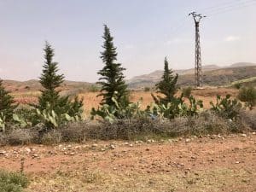
[[[129,103],[127,85],[125,84],[125,76],[123,72],[125,68],[117,61],[116,48],[113,45],[113,37],[110,34],[108,26],[104,25],[104,49],[101,53],[101,58],[105,66],[98,72],[102,77],[98,84],[102,84],[101,93],[98,96],[103,96],[101,104],[114,106],[113,96],[121,106]]]

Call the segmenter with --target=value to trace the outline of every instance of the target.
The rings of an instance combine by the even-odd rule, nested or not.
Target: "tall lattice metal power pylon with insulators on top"
[[[201,87],[201,46],[200,46],[200,33],[199,33],[199,24],[203,17],[201,14],[192,12],[189,15],[193,16],[195,20],[195,86]]]

